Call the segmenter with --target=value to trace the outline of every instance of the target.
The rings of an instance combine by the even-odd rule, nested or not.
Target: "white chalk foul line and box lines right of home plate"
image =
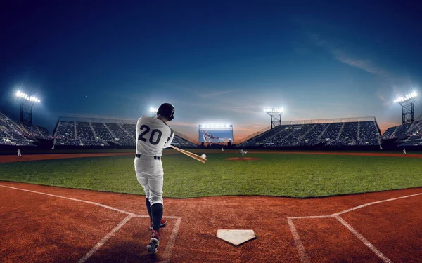
[[[364,205],[359,205],[359,206],[356,206],[354,208],[343,210],[339,213],[333,213],[331,215],[309,215],[309,216],[303,216],[303,217],[287,217],[287,222],[288,222],[288,225],[290,227],[290,231],[292,232],[293,239],[294,239],[295,244],[296,244],[296,248],[298,249],[300,260],[302,261],[302,263],[309,263],[309,257],[307,256],[305,248],[302,245],[302,241],[300,240],[300,236],[298,235],[298,231],[296,231],[295,224],[293,223],[293,219],[335,218],[340,223],[342,223],[349,231],[351,231],[355,236],[357,236],[357,238],[359,238],[360,241],[362,241],[368,248],[370,248],[384,262],[392,263],[392,261],[390,259],[388,259],[388,257],[385,257],[385,255],[383,255],[383,253],[380,250],[378,250],[374,245],[372,245],[366,238],[364,238],[364,236],[359,234],[359,232],[357,232],[355,229],[353,229],[352,226],[350,226],[350,224],[347,224],[347,222],[345,222],[345,220],[343,220],[343,218],[341,218],[339,215],[353,211],[353,210],[357,210],[359,208],[364,208],[364,207],[369,206],[369,205],[375,205],[377,203],[384,203],[384,202],[388,202],[388,201],[395,201],[395,200],[398,200],[398,199],[409,198],[409,197],[418,196],[418,195],[421,195],[421,194],[422,193],[411,194],[409,196],[401,196],[401,197],[397,197],[397,198],[390,198],[390,199],[385,199],[385,200],[382,200],[382,201],[366,203]]]

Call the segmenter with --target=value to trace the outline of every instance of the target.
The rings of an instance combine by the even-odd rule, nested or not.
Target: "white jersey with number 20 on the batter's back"
[[[156,117],[142,116],[136,123],[136,154],[161,156],[162,149],[170,147],[173,130]]]

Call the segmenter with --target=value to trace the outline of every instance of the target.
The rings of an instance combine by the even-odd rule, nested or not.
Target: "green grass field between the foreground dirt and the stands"
[[[209,153],[207,163],[166,154],[164,196],[333,196],[422,187],[422,159],[378,156]],[[133,156],[1,163],[0,180],[143,194]]]

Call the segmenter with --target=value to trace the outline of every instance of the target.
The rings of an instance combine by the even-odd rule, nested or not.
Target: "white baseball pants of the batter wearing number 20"
[[[164,170],[161,160],[155,160],[151,156],[135,157],[134,161],[136,178],[145,190],[146,198],[151,205],[162,204],[162,182]]]

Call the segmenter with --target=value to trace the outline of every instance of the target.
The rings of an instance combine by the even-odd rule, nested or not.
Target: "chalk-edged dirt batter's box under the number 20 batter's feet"
[[[151,230],[148,229],[149,217],[128,215],[79,262],[170,262],[181,217],[163,218],[167,220],[167,225],[160,229],[157,255],[151,255],[146,250],[151,237]]]

